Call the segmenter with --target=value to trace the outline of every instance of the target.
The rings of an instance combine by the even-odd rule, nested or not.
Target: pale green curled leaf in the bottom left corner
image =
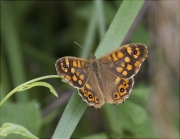
[[[27,138],[38,139],[38,137],[34,136],[31,132],[29,132],[26,128],[20,125],[5,123],[0,128],[0,136],[7,136],[8,134],[21,134]]]

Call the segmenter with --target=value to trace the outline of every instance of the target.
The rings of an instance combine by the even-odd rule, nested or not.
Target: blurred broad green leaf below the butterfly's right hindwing
[[[127,130],[135,137],[155,138],[152,122],[146,109],[142,106],[126,100],[123,105],[118,106],[118,119],[121,120],[121,128]]]

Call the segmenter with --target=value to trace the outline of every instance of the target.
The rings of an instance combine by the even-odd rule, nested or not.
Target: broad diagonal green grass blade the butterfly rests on
[[[120,6],[105,37],[102,39],[102,42],[97,48],[97,51],[95,53],[97,57],[100,57],[101,55],[117,48],[121,44],[123,38],[125,37],[126,33],[131,27],[143,3],[144,3],[143,0],[122,2],[122,5]],[[94,19],[97,20],[96,10],[97,9],[92,9],[93,21]],[[89,26],[91,26],[91,22]],[[86,107],[87,107],[87,104],[82,101],[80,96],[78,96],[77,91],[75,91],[57,125],[57,128],[52,138],[53,139],[70,138],[82,114],[84,113]],[[112,121],[113,121],[112,122],[113,124],[109,126],[112,129],[118,129],[116,126],[116,123],[118,123],[117,119],[116,120],[112,119]],[[116,135],[117,134],[119,135],[119,130],[116,130]]]

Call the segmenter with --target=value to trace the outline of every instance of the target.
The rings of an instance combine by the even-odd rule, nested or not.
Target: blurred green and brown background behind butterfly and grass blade
[[[101,4],[107,30],[121,1]],[[94,53],[102,37],[98,26],[94,31],[88,27],[93,5],[93,1],[1,1],[1,100],[28,80],[56,75],[58,58],[78,57],[83,51],[73,42],[84,46],[93,39],[86,49]],[[179,1],[144,3],[122,43],[144,43],[149,50],[130,98],[98,110],[87,107],[72,138],[179,137],[179,5]],[[0,126],[11,122],[40,138],[52,137],[74,89],[60,79],[46,81],[58,98],[44,87],[16,93],[1,107]]]

